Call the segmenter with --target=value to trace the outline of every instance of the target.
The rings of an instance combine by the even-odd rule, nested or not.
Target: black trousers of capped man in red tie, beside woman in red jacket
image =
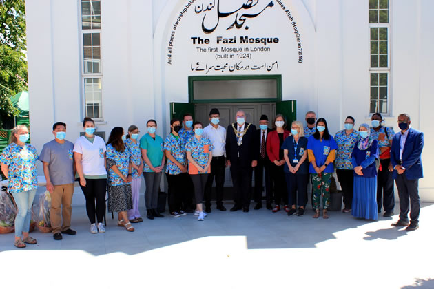
[[[257,203],[262,202],[262,184],[263,175],[265,171],[265,202],[271,204],[271,196],[273,183],[271,182],[271,162],[268,158],[259,158],[258,164],[255,169],[255,190],[254,190],[254,200]]]

